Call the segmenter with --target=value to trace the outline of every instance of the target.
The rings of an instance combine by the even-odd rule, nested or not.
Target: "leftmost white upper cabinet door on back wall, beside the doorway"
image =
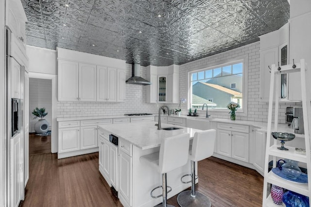
[[[79,100],[79,64],[58,60],[58,100]]]

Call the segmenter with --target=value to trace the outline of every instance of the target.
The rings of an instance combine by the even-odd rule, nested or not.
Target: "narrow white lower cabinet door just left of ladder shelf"
[[[264,159],[266,152],[266,132],[255,130],[254,140],[254,166],[259,170],[259,173],[264,173]]]

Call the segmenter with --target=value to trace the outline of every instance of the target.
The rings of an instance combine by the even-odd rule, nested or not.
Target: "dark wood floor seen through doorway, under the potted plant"
[[[29,155],[51,153],[51,135],[38,136],[29,133]]]

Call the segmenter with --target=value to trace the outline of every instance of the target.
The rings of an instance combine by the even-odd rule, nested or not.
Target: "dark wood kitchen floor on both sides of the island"
[[[30,157],[30,176],[21,207],[122,207],[98,171],[98,153],[57,159]],[[256,171],[221,159],[199,161],[199,184],[212,207],[260,207],[263,178]],[[168,204],[178,207],[177,196]]]

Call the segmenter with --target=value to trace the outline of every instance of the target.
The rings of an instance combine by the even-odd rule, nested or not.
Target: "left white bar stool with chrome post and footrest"
[[[163,196],[162,205],[157,205],[159,207],[173,207],[172,205],[167,205],[166,203],[167,193],[172,191],[172,188],[167,186],[166,173],[187,164],[189,156],[189,143],[189,134],[181,134],[164,138],[161,142],[159,152],[140,157],[140,162],[155,167],[158,172],[162,174],[162,186],[158,186],[150,192],[150,195],[153,198]],[[152,192],[157,188],[162,188],[163,193],[154,196]],[[169,188],[170,191],[167,191],[167,188]]]

